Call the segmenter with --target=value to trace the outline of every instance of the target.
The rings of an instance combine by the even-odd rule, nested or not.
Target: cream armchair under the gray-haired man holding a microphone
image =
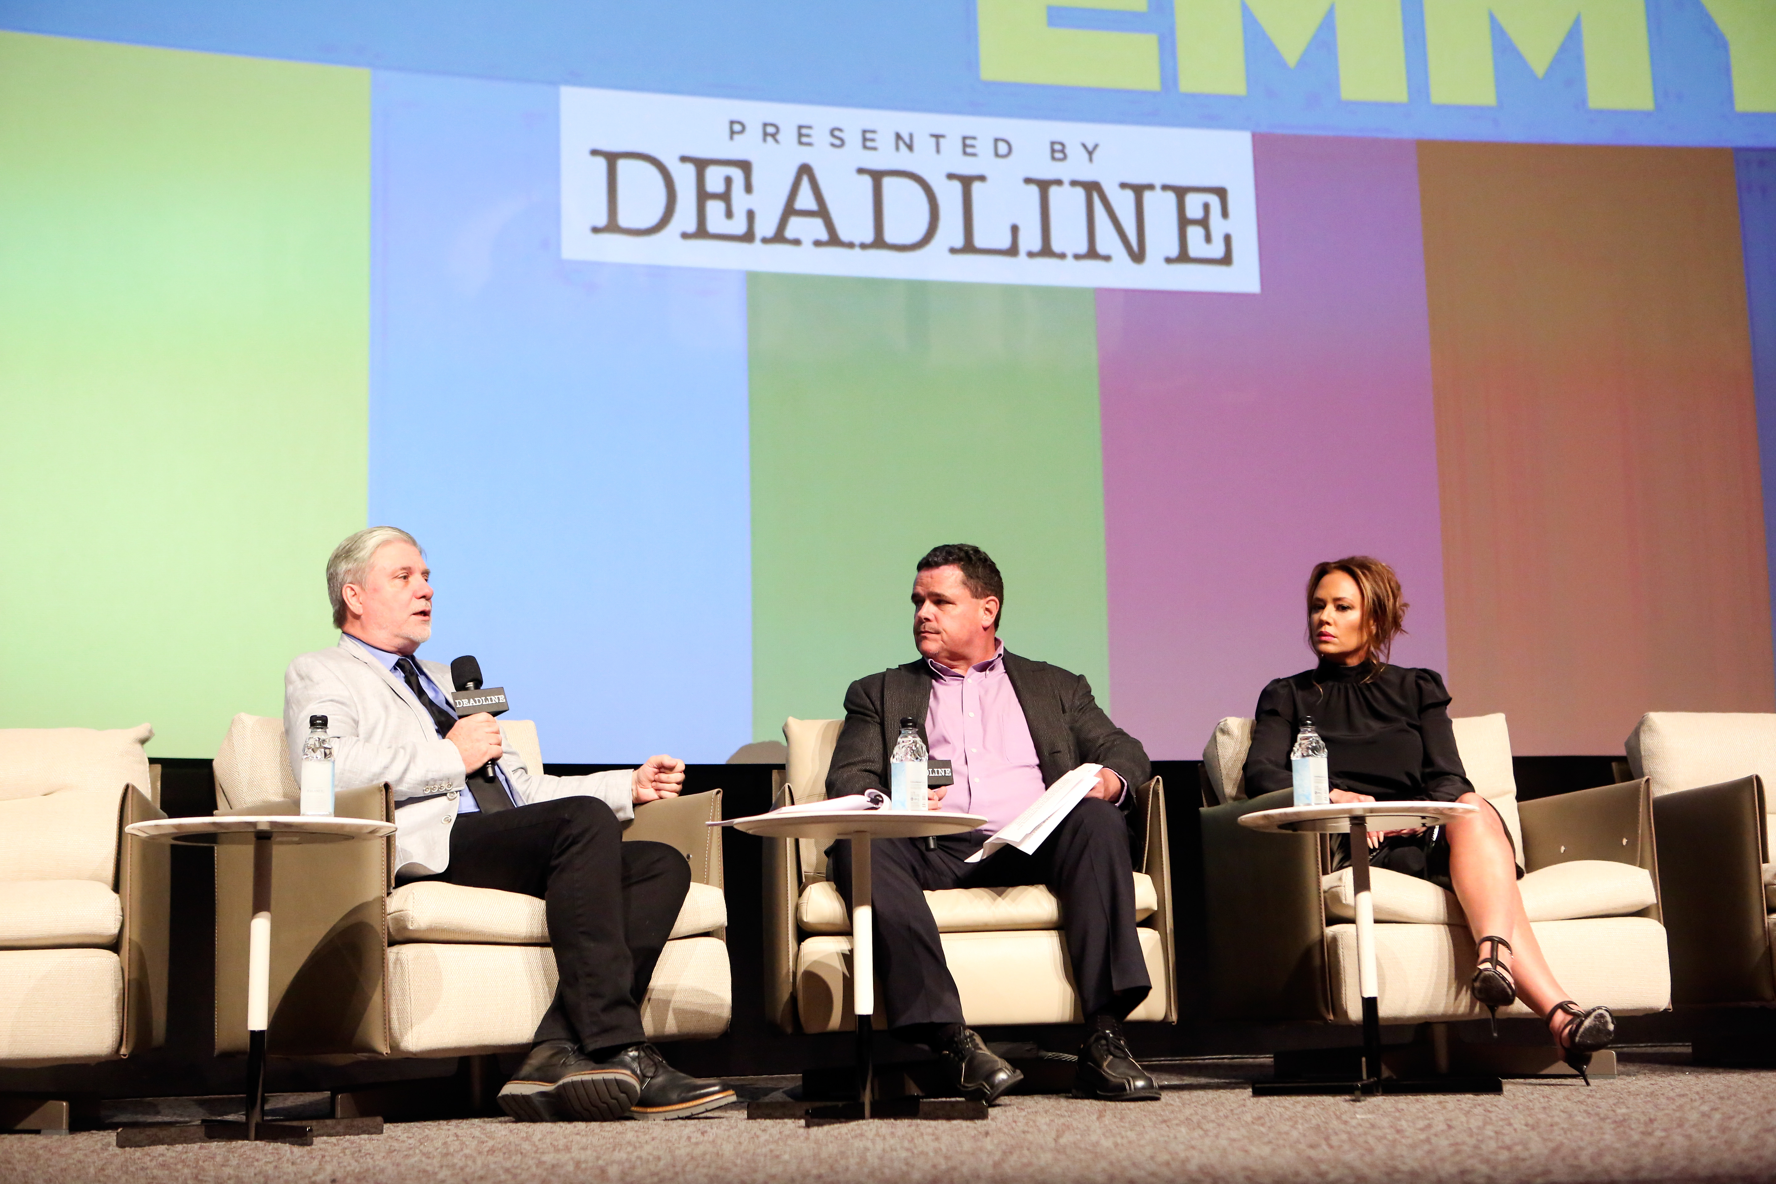
[[[501,721],[531,769],[536,726]],[[279,719],[236,715],[215,762],[217,813],[295,813],[298,786]],[[336,813],[394,820],[385,786],[341,790]],[[636,809],[625,840],[670,843],[691,863],[671,939],[641,1003],[652,1040],[718,1037],[732,1014],[721,790]],[[490,888],[394,888],[394,840],[291,847],[272,884],[272,1054],[465,1056],[527,1049],[554,998],[543,902]],[[247,1051],[252,859],[217,849],[217,1051]],[[485,1006],[497,998],[499,1006]]]

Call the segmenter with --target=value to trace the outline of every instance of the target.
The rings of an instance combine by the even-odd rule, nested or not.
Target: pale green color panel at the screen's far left
[[[0,726],[282,712],[368,355],[368,71],[0,34]]]

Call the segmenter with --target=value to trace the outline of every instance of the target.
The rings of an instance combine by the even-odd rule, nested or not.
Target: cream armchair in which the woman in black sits
[[[1549,966],[1582,1006],[1618,1015],[1669,1006],[1652,806],[1645,781],[1517,801],[1504,715],[1455,721],[1474,790],[1499,808],[1522,852],[1524,907]],[[1330,872],[1316,836],[1266,834],[1240,815],[1289,806],[1247,799],[1250,719],[1224,719],[1202,751],[1211,1010],[1225,1019],[1360,1024],[1350,868]],[[1485,1019],[1467,989],[1474,939],[1453,893],[1376,868],[1375,950],[1384,1024]],[[1501,1015],[1531,1015],[1522,1001]]]

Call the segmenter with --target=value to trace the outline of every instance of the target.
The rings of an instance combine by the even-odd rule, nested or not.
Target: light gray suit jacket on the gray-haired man
[[[449,667],[419,660],[440,689],[449,689]],[[284,738],[289,767],[302,769],[302,742],[309,715],[327,717],[334,740],[334,783],[357,788],[387,781],[394,790],[394,864],[405,875],[426,875],[449,866],[449,834],[467,774],[456,746],[444,740],[430,712],[396,675],[382,667],[350,637],[332,650],[304,653],[284,673]],[[634,770],[551,777],[529,769],[510,747],[499,767],[520,806],[556,797],[597,797],[618,818],[634,817]]]

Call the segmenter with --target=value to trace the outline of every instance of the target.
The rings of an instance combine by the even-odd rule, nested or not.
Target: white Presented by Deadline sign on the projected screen
[[[561,256],[1256,293],[1252,137],[563,87]]]

